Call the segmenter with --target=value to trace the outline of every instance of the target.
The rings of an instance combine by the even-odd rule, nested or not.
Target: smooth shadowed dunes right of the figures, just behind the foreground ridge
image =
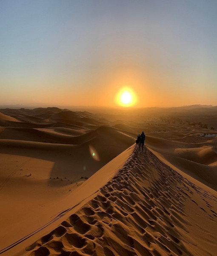
[[[204,140],[197,136],[203,142],[195,143],[194,137],[191,143],[186,143],[146,136],[146,144],[172,168],[217,190],[217,139]]]

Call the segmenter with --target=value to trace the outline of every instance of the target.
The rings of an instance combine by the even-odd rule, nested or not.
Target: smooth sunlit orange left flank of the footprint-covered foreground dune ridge
[[[54,145],[52,146],[54,147]],[[69,145],[66,145],[65,147],[69,147]],[[107,183],[111,179],[111,177],[113,177],[115,173],[123,165],[126,164],[126,162],[128,161],[128,158],[131,157],[132,151],[133,151],[132,147],[123,151],[120,155],[115,157],[113,160],[111,160],[109,163],[103,166],[103,168],[101,168],[98,172],[96,172],[93,176],[91,176],[85,183],[77,187],[77,189],[74,189],[72,194],[68,192],[68,195],[62,197],[61,200],[59,201],[57,200],[58,198],[56,198],[55,201],[58,202],[58,205],[55,207],[55,211],[56,211],[55,214],[51,217],[49,216],[50,218],[47,218],[46,215],[44,215],[43,218],[40,218],[43,221],[42,222],[43,224],[40,226],[39,223],[36,223],[37,225],[35,225],[36,227],[35,230],[32,229],[33,223],[31,222],[32,222],[32,219],[34,219],[34,222],[37,222],[39,220],[38,216],[36,215],[33,215],[33,218],[28,221],[31,227],[30,229],[28,227],[23,226],[23,230],[24,230],[23,232],[23,230],[19,230],[20,225],[18,225],[19,226],[18,229],[17,227],[13,228],[13,230],[19,231],[19,233],[23,233],[23,237],[19,235],[18,236],[19,240],[17,241],[16,240],[14,241],[14,239],[12,239],[13,242],[11,244],[8,244],[9,237],[6,240],[5,240],[5,237],[3,237],[0,243],[1,244],[0,254],[3,253],[3,255],[17,255],[17,251],[19,250],[17,249],[17,246],[19,247],[21,242],[31,238],[31,236],[33,236],[35,233],[37,234],[38,232],[40,232],[40,230],[42,230],[42,232],[45,232],[43,230],[46,227],[51,229],[52,223],[54,221],[60,221],[60,218],[62,217],[64,220],[64,216],[67,214],[67,212],[76,211],[76,209],[79,209],[79,206],[81,207],[83,204],[85,204],[86,201],[89,201],[91,198],[93,198],[97,190],[100,189],[100,187],[104,186],[104,184]],[[50,213],[50,210],[51,209],[49,207],[49,213]],[[48,221],[45,222],[44,219],[47,219]],[[22,220],[22,221],[20,220],[20,222],[23,222],[25,224],[25,220]],[[30,233],[28,233],[28,231]],[[10,230],[9,230],[9,233],[10,233]],[[5,243],[2,244],[2,241],[5,241]],[[4,248],[2,248],[3,246]],[[22,247],[23,245],[21,244],[21,248]],[[23,253],[24,252],[22,251],[18,255],[23,255]]]

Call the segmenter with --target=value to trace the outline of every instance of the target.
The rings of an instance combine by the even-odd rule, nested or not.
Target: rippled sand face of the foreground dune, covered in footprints
[[[26,247],[27,255],[216,255],[216,192],[189,182],[148,149],[134,146],[94,198],[71,213]]]

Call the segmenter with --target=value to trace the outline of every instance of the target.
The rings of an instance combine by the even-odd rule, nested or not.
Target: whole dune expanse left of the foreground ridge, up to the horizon
[[[68,207],[70,201],[65,198],[74,189],[134,143],[133,133],[106,126],[105,120],[88,112],[3,111],[0,250],[52,221]]]

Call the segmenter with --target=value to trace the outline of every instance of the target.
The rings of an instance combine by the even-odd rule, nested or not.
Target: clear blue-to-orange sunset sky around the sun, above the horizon
[[[217,105],[216,0],[0,0],[0,104]]]

